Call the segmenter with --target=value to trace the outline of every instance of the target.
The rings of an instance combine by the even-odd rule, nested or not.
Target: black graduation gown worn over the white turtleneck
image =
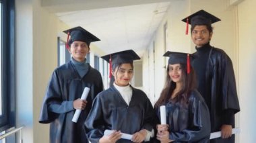
[[[133,87],[132,90],[129,105],[115,87],[110,87],[97,95],[86,120],[88,138],[92,143],[102,138],[104,130],[120,130],[126,134],[134,134],[141,129],[152,131],[152,104],[143,91]],[[117,142],[125,143],[131,140],[120,139]]]

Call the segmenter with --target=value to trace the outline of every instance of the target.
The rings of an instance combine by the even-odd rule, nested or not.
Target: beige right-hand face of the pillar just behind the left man
[[[39,124],[42,99],[53,70],[57,67],[57,18],[33,1],[33,142],[48,142],[49,124]]]

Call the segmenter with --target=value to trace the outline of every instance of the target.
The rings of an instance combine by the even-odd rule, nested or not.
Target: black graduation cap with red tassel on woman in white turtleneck
[[[115,52],[112,54],[102,56],[101,58],[109,62],[109,73],[111,73],[113,64],[133,63],[133,60],[140,59],[139,56],[133,50]],[[109,74],[109,77],[111,78],[111,74]]]

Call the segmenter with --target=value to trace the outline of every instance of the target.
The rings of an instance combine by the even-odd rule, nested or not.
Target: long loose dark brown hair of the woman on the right
[[[168,66],[167,66],[168,67]],[[177,102],[180,102],[181,105],[187,106],[187,101],[189,99],[189,95],[193,89],[196,88],[195,81],[195,73],[192,67],[189,74],[187,74],[187,64],[181,64],[182,70],[182,81],[183,85],[181,87],[181,91],[177,93]],[[164,89],[160,94],[158,101],[155,103],[155,107],[160,107],[160,105],[164,105],[167,101],[171,101],[170,95],[174,91],[176,87],[176,83],[174,83],[169,76],[169,68],[166,70],[166,83],[164,85]]]

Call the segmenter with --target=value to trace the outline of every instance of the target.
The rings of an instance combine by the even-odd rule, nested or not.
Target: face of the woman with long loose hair
[[[182,68],[181,64],[169,64],[169,76],[174,83],[181,83]]]

